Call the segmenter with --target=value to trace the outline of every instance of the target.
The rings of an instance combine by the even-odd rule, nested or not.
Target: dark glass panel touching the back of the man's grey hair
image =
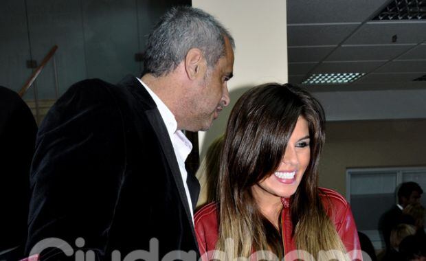
[[[82,1],[82,16],[87,77],[115,83],[129,73],[139,76],[135,0]]]

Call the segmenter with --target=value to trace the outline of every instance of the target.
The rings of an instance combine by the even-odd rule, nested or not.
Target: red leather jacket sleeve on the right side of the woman
[[[352,216],[350,205],[346,203],[345,209],[342,209],[340,226],[337,228],[337,232],[341,238],[341,241],[348,251],[350,260],[363,260],[361,254],[361,245],[359,244],[357,225]]]

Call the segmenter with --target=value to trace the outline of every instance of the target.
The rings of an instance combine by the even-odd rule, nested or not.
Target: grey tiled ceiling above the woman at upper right
[[[349,84],[306,87],[311,91],[426,89],[426,81],[413,81],[426,75],[426,17],[372,21],[391,2],[288,0],[289,82],[301,84],[313,73],[366,73]],[[417,2],[426,6],[425,1]]]

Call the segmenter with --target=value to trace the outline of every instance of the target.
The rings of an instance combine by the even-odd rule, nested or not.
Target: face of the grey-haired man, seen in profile
[[[197,94],[192,99],[192,124],[188,131],[207,131],[223,107],[229,105],[227,81],[232,78],[234,51],[225,38],[226,56],[221,57],[214,68],[207,69],[199,82]]]

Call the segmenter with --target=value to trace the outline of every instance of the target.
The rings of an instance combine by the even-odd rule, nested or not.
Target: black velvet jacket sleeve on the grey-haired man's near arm
[[[87,80],[71,87],[52,106],[37,135],[27,256],[74,260],[54,247],[65,241],[74,253],[82,248],[102,260],[124,155],[122,118],[106,83]],[[41,241],[46,238],[56,241]]]

